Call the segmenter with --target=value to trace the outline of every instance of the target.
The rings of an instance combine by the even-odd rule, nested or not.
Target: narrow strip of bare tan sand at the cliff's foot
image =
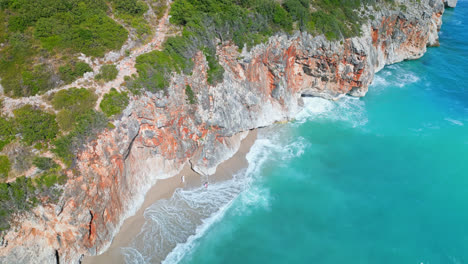
[[[114,236],[109,248],[100,255],[84,256],[81,263],[83,264],[119,264],[125,263],[123,255],[120,253],[122,247],[127,247],[140,232],[145,223],[144,212],[146,208],[155,202],[163,199],[169,199],[174,194],[177,188],[191,189],[199,187],[203,182],[210,183],[226,181],[232,178],[237,171],[246,168],[249,164],[246,159],[247,153],[257,139],[257,129],[250,130],[248,135],[241,141],[237,152],[228,160],[223,161],[216,168],[216,172],[210,176],[202,176],[193,171],[190,163],[187,161],[177,175],[158,180],[155,185],[146,193],[145,200],[136,213],[127,218],[119,232]],[[182,176],[185,176],[185,184],[182,183]]]

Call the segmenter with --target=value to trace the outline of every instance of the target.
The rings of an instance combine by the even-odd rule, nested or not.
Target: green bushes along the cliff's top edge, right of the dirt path
[[[208,83],[222,80],[216,47],[232,41],[239,48],[264,42],[278,31],[308,31],[337,40],[358,35],[364,18],[363,5],[393,0],[175,0],[171,23],[183,27],[182,35],[170,37],[162,51],[137,58],[138,77],[128,81],[134,93],[155,92],[169,86],[173,72],[189,74],[194,54],[202,50],[208,61]]]

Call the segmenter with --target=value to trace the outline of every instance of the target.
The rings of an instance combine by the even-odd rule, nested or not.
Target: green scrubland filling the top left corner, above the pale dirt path
[[[30,96],[70,83],[84,65],[67,65],[84,53],[100,57],[119,49],[127,31],[105,0],[0,0],[0,78],[10,96]],[[43,61],[48,61],[44,63]]]

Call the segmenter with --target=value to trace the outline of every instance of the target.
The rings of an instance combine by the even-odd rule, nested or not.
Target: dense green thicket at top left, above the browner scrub
[[[102,56],[120,48],[127,38],[126,30],[106,15],[104,0],[19,1],[22,17],[34,26],[34,36],[46,49],[63,48]]]

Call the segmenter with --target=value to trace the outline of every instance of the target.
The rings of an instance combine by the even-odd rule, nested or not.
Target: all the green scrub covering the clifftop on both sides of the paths
[[[126,77],[126,85],[136,94],[164,90],[174,72],[191,74],[194,55],[200,51],[208,64],[207,82],[216,85],[224,74],[216,54],[220,43],[251,48],[277,32],[294,30],[324,34],[331,40],[348,38],[360,33],[366,19],[357,12],[362,5],[384,2],[392,0],[174,0],[170,21],[181,34],[169,37],[162,50],[140,55],[138,76]],[[135,29],[132,36],[136,33],[145,41],[151,35],[144,16],[148,5],[161,18],[167,4],[167,0],[0,0],[0,78],[5,94],[32,96],[72,83],[93,71],[77,58],[80,53],[100,57],[126,41],[127,30],[111,15]],[[109,82],[117,75],[115,65],[104,65],[95,79]],[[197,103],[189,85],[185,95],[189,104]],[[56,116],[31,105],[14,110],[14,118],[0,116],[0,150],[16,135],[21,140],[8,147],[17,147],[19,154],[0,155],[0,182],[21,173],[18,168],[40,169],[35,177],[0,183],[0,231],[9,228],[11,215],[40,201],[57,201],[61,195],[59,184],[65,181],[61,166],[53,158],[35,157],[30,146],[35,153],[52,151],[54,158],[70,167],[84,144],[113,127],[108,117],[120,114],[129,103],[128,94],[116,89],[104,95],[102,112],[94,110],[94,91],[84,88],[59,91],[50,100]]]

